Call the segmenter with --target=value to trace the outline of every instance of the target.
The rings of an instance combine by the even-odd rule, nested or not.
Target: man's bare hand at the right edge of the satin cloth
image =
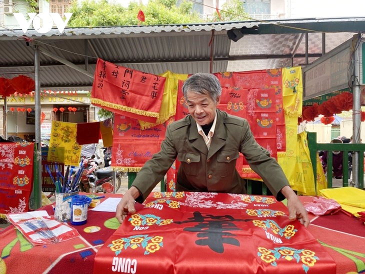
[[[281,193],[287,199],[287,209],[289,210],[289,220],[298,219],[305,227],[309,224],[308,212],[300,202],[298,196],[286,185],[281,189]]]

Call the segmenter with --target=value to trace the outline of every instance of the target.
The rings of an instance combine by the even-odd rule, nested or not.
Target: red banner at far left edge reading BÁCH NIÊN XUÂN
[[[0,213],[28,211],[33,153],[32,142],[0,143]]]

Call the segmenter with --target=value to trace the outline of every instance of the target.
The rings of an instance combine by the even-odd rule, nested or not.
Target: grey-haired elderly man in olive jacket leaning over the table
[[[196,73],[182,86],[189,115],[167,126],[161,149],[138,172],[132,186],[116,207],[119,222],[134,213],[134,202],[142,202],[177,158],[177,191],[246,193],[235,169],[239,152],[261,176],[277,200],[287,198],[289,219],[304,226],[309,219],[304,206],[269,152],[258,145],[246,119],[216,108],[221,86],[209,73]]]

